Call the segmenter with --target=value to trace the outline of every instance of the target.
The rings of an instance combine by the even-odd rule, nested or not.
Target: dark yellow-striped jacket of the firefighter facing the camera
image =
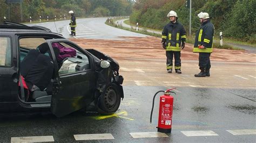
[[[186,41],[186,31],[179,22],[164,26],[162,39],[166,39],[166,51],[180,51],[181,41]]]

